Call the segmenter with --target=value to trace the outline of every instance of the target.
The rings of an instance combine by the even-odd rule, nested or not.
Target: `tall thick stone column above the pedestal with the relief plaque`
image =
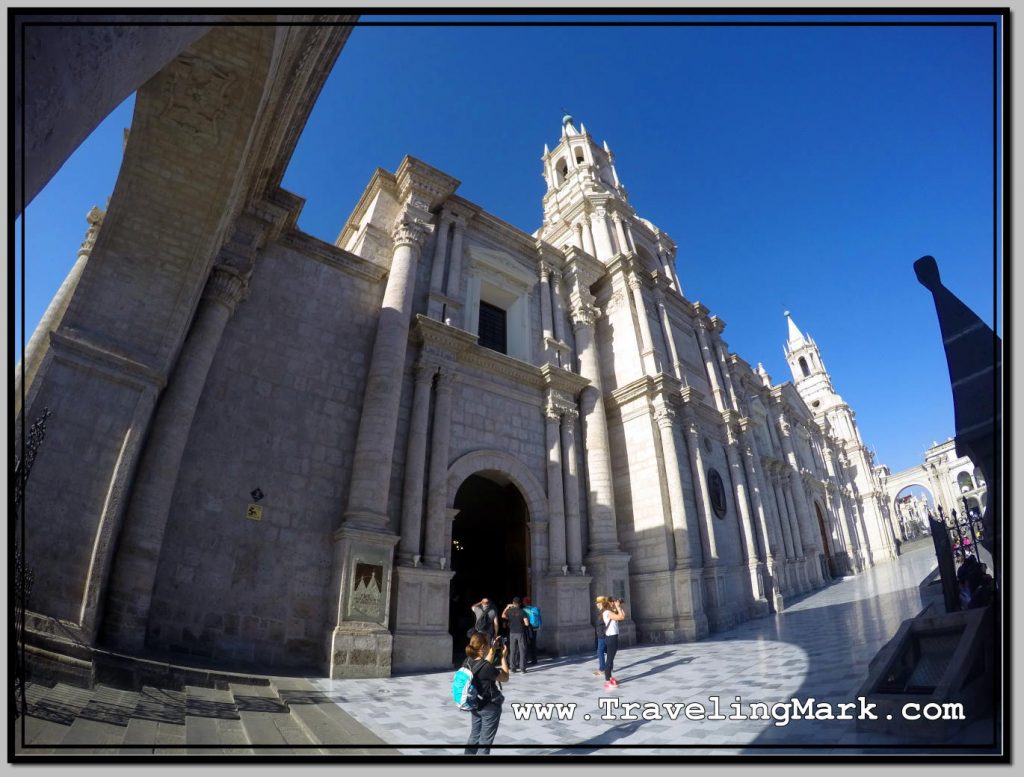
[[[394,226],[391,271],[370,357],[343,521],[353,528],[387,530],[391,460],[416,287],[416,264],[428,229],[429,225],[409,217],[399,218]]]

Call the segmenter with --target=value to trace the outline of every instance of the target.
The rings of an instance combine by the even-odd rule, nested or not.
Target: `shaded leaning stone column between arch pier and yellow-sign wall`
[[[243,299],[247,274],[214,267],[167,388],[160,397],[128,503],[108,593],[106,639],[141,650],[160,549],[196,407],[224,327]]]

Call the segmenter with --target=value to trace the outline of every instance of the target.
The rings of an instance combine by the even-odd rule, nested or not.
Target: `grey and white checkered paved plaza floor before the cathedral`
[[[697,702],[710,716],[715,713],[712,697],[718,697],[722,716],[733,713],[730,705],[737,697],[744,715],[751,702],[771,706],[811,697],[833,704],[856,701],[870,659],[903,620],[922,610],[919,586],[934,568],[931,544],[918,545],[895,562],[787,604],[781,614],[696,643],[620,650],[615,676],[621,685],[614,691],[604,690],[603,678],[593,676],[597,662],[592,656],[542,660],[505,684],[506,704],[493,754],[943,752],[915,740],[909,723],[907,736],[897,738],[858,731],[855,720],[800,720],[780,726],[774,720],[687,720],[680,713]],[[452,754],[462,751],[470,724],[469,714],[451,700],[452,674],[313,683],[401,752]],[[558,711],[551,720],[540,720],[536,706],[519,706],[519,716],[514,709],[549,702],[562,704],[563,720],[557,719]],[[662,719],[648,711],[645,720],[642,714],[651,707],[627,710],[624,702],[654,702]],[[517,719],[527,711],[528,720]],[[675,720],[670,711],[677,713]],[[956,735],[955,743],[990,743],[991,738],[991,722],[975,721]]]

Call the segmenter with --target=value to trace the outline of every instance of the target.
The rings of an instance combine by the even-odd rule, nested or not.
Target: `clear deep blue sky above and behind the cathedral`
[[[410,154],[532,232],[567,110],[678,243],[684,292],[730,349],[788,380],[791,310],[896,471],[954,431],[913,261],[934,255],[996,317],[992,46],[971,27],[360,27],[285,186],[307,201],[300,226],[333,242],[373,170]],[[27,211],[30,333],[113,190],[130,103]]]

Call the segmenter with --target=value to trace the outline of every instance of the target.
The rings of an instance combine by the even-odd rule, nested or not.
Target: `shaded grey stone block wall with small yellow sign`
[[[340,253],[340,252],[339,252]],[[224,332],[171,508],[153,646],[275,665],[319,659],[383,286],[273,246]],[[246,517],[260,488],[260,520]]]

